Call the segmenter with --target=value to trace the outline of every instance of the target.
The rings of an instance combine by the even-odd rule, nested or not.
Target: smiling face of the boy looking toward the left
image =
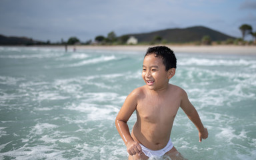
[[[151,53],[144,58],[142,78],[152,90],[165,89],[169,83],[169,71],[165,71],[163,59]]]

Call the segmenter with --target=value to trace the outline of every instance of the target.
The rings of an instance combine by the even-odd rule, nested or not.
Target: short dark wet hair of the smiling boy
[[[163,65],[165,65],[166,71],[171,68],[176,69],[177,59],[175,57],[175,54],[173,53],[173,50],[165,46],[149,47],[149,49],[147,49],[145,57],[152,53],[155,53],[155,57],[161,57],[163,59]]]

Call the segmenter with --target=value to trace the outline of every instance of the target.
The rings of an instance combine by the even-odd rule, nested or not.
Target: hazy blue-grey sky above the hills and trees
[[[256,0],[0,0],[0,35],[39,41],[194,26],[241,37],[243,24],[256,32]]]

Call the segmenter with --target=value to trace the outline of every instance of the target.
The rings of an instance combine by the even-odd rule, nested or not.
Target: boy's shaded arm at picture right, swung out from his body
[[[197,110],[189,101],[185,91],[182,93],[181,108],[186,113],[187,117],[194,123],[195,127],[197,127],[197,130],[199,131],[199,142],[201,142],[202,139],[207,139],[208,131],[203,127],[203,123],[201,122]]]

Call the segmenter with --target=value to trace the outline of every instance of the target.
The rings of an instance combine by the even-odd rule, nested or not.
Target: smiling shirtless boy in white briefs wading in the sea
[[[173,51],[165,46],[151,47],[145,54],[142,77],[146,85],[127,96],[115,119],[129,159],[149,159],[163,155],[171,159],[182,158],[170,139],[179,107],[197,127],[199,141],[208,137],[208,131],[203,127],[187,93],[169,84],[169,79],[175,75],[176,61]],[[137,121],[130,134],[127,121],[135,110]]]

